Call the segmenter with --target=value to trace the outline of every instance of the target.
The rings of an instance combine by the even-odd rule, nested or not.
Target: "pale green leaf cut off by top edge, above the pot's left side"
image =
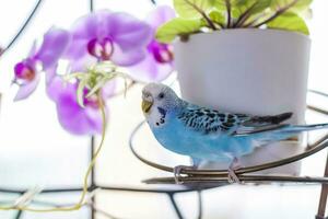
[[[174,9],[184,19],[199,19],[207,14],[215,0],[174,0]]]

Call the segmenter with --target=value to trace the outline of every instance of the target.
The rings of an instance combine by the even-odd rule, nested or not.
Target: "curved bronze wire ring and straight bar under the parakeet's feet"
[[[159,164],[153,161],[149,161],[148,159],[141,157],[133,147],[133,139],[138,131],[140,131],[141,127],[145,124],[145,122],[139,123],[136,128],[132,130],[132,134],[129,139],[129,146],[132,153],[143,163],[155,168],[157,170],[166,171],[173,173],[173,168]],[[243,175],[246,173],[254,173],[258,171],[263,171],[268,169],[278,168],[281,165],[286,165],[296,161],[300,161],[304,158],[307,158],[318,151],[328,147],[328,135],[320,138],[314,145],[309,147],[309,150],[304,151],[303,153],[285,158],[282,160],[268,162],[259,165],[242,168],[236,170],[235,173],[238,175],[239,180],[243,182],[298,182],[298,183],[328,183],[328,177],[308,177],[308,176],[282,176],[282,175]],[[183,170],[183,174],[187,176],[179,176],[179,181],[183,183],[227,183],[227,170]],[[174,177],[156,177],[156,178],[149,178],[144,181],[149,184],[159,184],[159,183],[168,183],[174,184]]]

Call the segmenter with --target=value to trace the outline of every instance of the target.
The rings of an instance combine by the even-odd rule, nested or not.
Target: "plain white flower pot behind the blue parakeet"
[[[309,49],[307,36],[278,30],[238,28],[190,35],[187,42],[174,44],[181,95],[191,103],[224,112],[293,112],[289,122],[304,124]],[[271,150],[274,155],[263,158]],[[297,146],[280,143],[243,159],[246,164],[258,164],[298,151]],[[297,174],[300,164],[286,170],[279,171]]]

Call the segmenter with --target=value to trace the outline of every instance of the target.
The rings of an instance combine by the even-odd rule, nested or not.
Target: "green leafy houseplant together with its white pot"
[[[302,15],[309,4],[311,0],[174,0],[179,18],[162,25],[156,37],[163,43],[176,39],[183,97],[233,113],[293,112],[291,123],[304,123],[311,41]],[[301,150],[289,146],[259,149],[242,162],[258,164]],[[298,174],[300,165],[276,171]]]

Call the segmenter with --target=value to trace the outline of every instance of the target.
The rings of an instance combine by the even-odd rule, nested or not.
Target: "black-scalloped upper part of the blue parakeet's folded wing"
[[[203,134],[225,132],[233,134],[241,124],[249,119],[244,114],[222,113],[204,107],[188,106],[179,115],[178,119],[184,125]]]

